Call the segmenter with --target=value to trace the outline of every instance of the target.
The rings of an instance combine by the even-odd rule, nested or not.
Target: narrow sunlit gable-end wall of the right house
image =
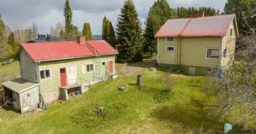
[[[232,36],[230,36],[230,29],[232,29]],[[234,61],[234,51],[236,46],[236,33],[234,27],[234,21],[230,25],[230,29],[228,29],[228,33],[223,38],[224,47],[223,47],[223,66],[228,67]],[[226,58],[224,58],[224,49],[226,48]]]

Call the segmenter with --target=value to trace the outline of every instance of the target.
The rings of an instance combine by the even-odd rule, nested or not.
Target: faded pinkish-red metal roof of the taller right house
[[[234,14],[194,17],[190,22],[189,18],[169,19],[155,37],[178,36],[180,33],[181,36],[226,36],[234,17]],[[182,32],[183,27],[185,30]]]

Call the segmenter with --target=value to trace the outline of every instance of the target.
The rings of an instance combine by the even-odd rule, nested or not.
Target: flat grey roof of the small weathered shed
[[[38,83],[30,82],[23,78],[16,78],[14,80],[3,82],[1,84],[6,88],[9,88],[10,90],[18,93],[24,92],[39,85]]]

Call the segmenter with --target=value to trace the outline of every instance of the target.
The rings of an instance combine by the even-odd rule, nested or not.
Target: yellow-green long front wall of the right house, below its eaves
[[[207,59],[206,48],[220,48],[221,37],[183,37],[181,45],[181,64],[184,66],[212,67],[220,66],[220,60]],[[174,52],[167,52],[166,46],[174,46]],[[158,38],[158,63],[177,64],[177,38],[174,43],[166,38]]]

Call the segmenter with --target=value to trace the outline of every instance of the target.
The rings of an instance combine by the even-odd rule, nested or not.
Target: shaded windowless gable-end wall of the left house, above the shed
[[[23,49],[20,53],[20,70],[22,71],[22,78],[37,82],[34,80],[34,74],[37,74],[36,66],[37,64],[28,55],[26,50]]]

